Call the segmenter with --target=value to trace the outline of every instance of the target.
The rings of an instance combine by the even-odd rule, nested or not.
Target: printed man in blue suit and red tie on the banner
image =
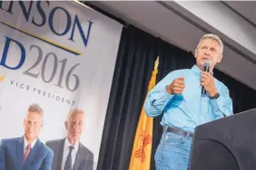
[[[30,105],[24,119],[25,135],[1,140],[1,170],[51,170],[54,153],[38,138],[43,125],[43,109],[37,104]]]

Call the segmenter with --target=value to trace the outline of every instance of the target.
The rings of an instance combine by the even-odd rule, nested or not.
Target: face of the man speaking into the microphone
[[[217,62],[222,61],[221,48],[217,41],[212,39],[205,39],[199,44],[198,49],[195,51],[196,64],[200,67],[203,66],[204,61],[212,61],[212,68]]]

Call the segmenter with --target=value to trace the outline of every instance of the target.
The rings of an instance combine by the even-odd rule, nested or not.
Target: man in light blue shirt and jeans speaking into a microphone
[[[163,113],[162,139],[154,156],[157,170],[187,170],[194,128],[232,114],[229,90],[212,71],[222,52],[222,40],[205,34],[195,50],[196,65],[170,72],[148,94],[147,116]]]

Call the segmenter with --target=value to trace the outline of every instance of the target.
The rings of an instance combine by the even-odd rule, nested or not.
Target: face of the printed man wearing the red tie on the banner
[[[29,111],[24,119],[25,137],[29,142],[34,141],[43,127],[42,116],[34,111]]]

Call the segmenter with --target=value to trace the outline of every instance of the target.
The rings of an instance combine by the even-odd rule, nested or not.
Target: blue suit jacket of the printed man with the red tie
[[[39,139],[24,159],[24,137],[8,138],[0,143],[0,169],[1,170],[51,170],[54,153]]]

